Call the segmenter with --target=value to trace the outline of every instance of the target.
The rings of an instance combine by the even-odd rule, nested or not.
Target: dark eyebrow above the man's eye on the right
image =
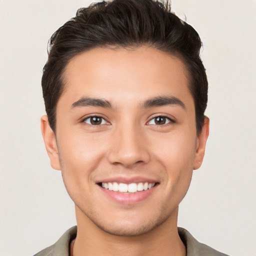
[[[174,96],[157,96],[147,99],[143,102],[142,107],[153,107],[153,106],[163,106],[163,105],[179,105],[186,109],[185,104],[177,97]]]

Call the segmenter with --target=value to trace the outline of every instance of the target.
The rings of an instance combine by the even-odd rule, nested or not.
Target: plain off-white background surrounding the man
[[[0,0],[0,256],[33,255],[75,224],[40,133],[50,35],[89,0]],[[172,0],[203,41],[210,136],[178,225],[230,255],[256,255],[256,1]],[[153,207],[153,205],[152,205]]]

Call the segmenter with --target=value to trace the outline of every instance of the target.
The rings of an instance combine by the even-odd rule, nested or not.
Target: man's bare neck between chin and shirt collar
[[[153,230],[137,236],[117,236],[97,227],[76,207],[77,236],[73,255],[185,256],[185,246],[177,232],[177,211]]]

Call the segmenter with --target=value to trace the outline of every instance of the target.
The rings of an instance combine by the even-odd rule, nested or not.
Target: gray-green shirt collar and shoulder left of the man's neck
[[[69,245],[76,236],[77,228],[73,226],[51,246],[37,252],[34,256],[68,256]]]

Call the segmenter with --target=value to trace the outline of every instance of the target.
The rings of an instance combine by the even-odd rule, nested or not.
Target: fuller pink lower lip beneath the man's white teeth
[[[113,201],[115,201],[117,203],[134,204],[134,203],[140,202],[142,200],[145,200],[148,196],[151,195],[151,193],[156,189],[157,186],[158,186],[158,184],[154,185],[150,189],[138,191],[135,193],[117,192],[117,191],[105,189],[101,186],[99,186],[99,188],[101,188],[102,192],[106,196],[108,196],[110,199],[112,199]]]

